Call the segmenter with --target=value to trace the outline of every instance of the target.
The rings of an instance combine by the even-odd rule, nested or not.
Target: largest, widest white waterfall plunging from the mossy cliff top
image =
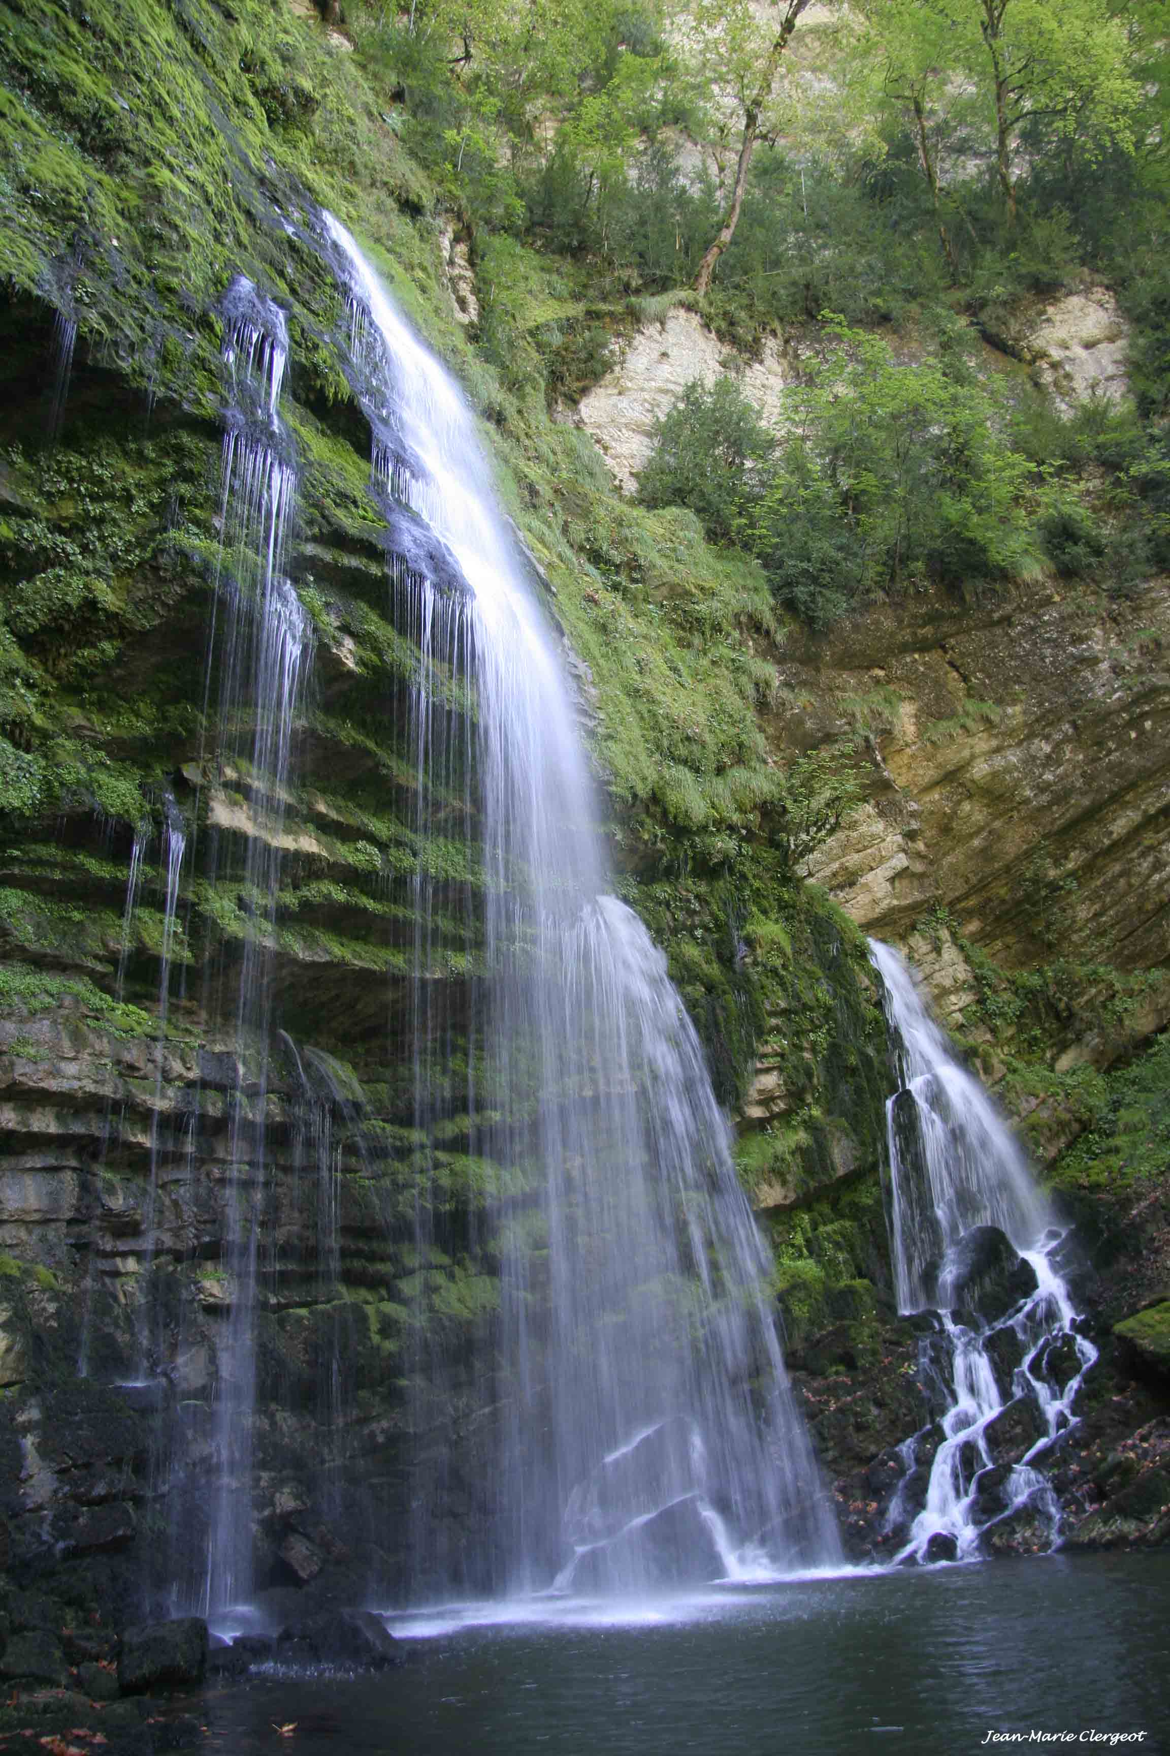
[[[467,1106],[468,1150],[491,1166],[486,1212],[460,1240],[477,1294],[498,1285],[470,1373],[463,1363],[495,1408],[479,1556],[451,1556],[437,1482],[421,1480],[416,1591],[640,1591],[833,1563],[768,1256],[667,961],[610,894],[554,636],[474,418],[353,237],[325,227],[400,623],[421,655],[416,1126],[432,1164],[437,1124]],[[482,866],[482,901],[467,903],[465,1069],[428,980],[451,932],[426,878],[440,820]],[[433,1398],[447,1373],[454,1400],[460,1368],[428,1305],[440,1245],[424,1175],[417,1206],[414,1377]]]

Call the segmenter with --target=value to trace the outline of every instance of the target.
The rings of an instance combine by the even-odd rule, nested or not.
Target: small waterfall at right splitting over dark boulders
[[[1077,1389],[1096,1359],[1077,1333],[1059,1271],[1067,1227],[1007,1122],[954,1059],[910,968],[874,939],[870,955],[898,1068],[898,1090],[886,1105],[895,1292],[902,1313],[937,1313],[931,1370],[945,1403],[926,1500],[898,1559],[977,1556],[981,1535],[1024,1507],[1054,1540],[1059,1505],[1033,1459],[1072,1424]],[[981,1299],[979,1275],[1002,1275],[1005,1266],[1000,1298]],[[991,1435],[1009,1410],[1023,1412],[1037,1436],[1005,1466]],[[907,1442],[910,1468],[916,1457],[917,1443]],[[895,1517],[902,1505],[903,1491]]]

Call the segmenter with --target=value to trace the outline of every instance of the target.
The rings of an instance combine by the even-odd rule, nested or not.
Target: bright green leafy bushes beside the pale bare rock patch
[[[728,379],[689,385],[658,425],[644,499],[735,536],[812,627],[930,579],[970,590],[1035,574],[1051,497],[1005,435],[995,381],[949,330],[940,355],[912,363],[840,320],[828,334],[837,346],[786,392],[779,441]]]

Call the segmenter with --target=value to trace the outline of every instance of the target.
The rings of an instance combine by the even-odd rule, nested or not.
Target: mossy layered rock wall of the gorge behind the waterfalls
[[[458,836],[428,843],[433,1033],[419,1043],[419,657],[388,594],[388,555],[409,565],[419,532],[368,495],[368,430],[330,348],[344,300],[310,241],[317,202],[379,251],[484,416],[565,634],[623,894],[668,950],[740,1117],[814,1435],[858,1549],[872,1545],[921,1391],[916,1338],[893,1317],[879,1175],[889,1071],[860,929],[917,959],[1042,1157],[1107,1126],[1107,1069],[1170,1017],[1165,581],[1124,604],[1044,585],[1026,601],[882,604],[817,639],[777,627],[746,562],[710,550],[691,515],[623,499],[591,439],[510,376],[523,321],[507,348],[488,344],[486,318],[477,339],[484,286],[477,307],[453,220],[344,39],[251,0],[232,12],[100,0],[84,37],[70,7],[51,5],[16,11],[5,30],[19,123],[0,234],[9,1565],[79,1603],[128,1607],[175,1579],[195,1589],[233,1299],[233,1106],[249,1101],[263,1105],[277,1192],[261,1243],[258,1582],[349,1600],[372,1582],[398,1589],[421,1479],[446,1508],[454,1572],[482,1517],[498,1412],[474,1382],[428,1401],[417,1321],[424,1282],[428,1322],[458,1356],[498,1296],[461,1247],[484,1178],[460,1103],[475,945],[444,918],[446,906],[467,918],[482,874]],[[225,727],[207,669],[221,300],[237,274],[288,314],[288,571],[312,622],[270,924],[239,874],[272,831],[251,776],[212,760]],[[651,327],[647,356],[654,339]],[[672,371],[677,388],[695,376]],[[753,371],[767,402],[779,342]],[[868,797],[802,866],[756,801],[772,773],[840,736],[858,745]],[[188,831],[170,946],[168,810]],[[258,938],[286,1033],[263,1080],[267,1045],[240,1041],[233,999]],[[417,1055],[449,1085],[440,1140],[416,1127]],[[323,1180],[337,1240],[325,1277]],[[1135,1236],[1166,1231],[1163,1191],[1068,1184],[1100,1245],[1103,1336],[1170,1296],[1161,1245],[1140,1280],[1133,1270]],[[1142,1219],[1138,1196],[1152,1203]],[[165,1371],[142,1370],[147,1308]],[[1163,1407],[1156,1350],[1110,1349],[1070,1494],[1114,1456],[1137,1457],[1105,1477],[1117,1491],[1159,1468],[1119,1450]],[[184,1433],[182,1480],[163,1429]],[[1096,1515],[1091,1493],[1082,1510]],[[1130,1522],[1149,1533],[1159,1517]]]

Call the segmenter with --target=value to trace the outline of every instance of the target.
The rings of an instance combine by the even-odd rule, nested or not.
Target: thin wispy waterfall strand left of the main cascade
[[[270,961],[293,725],[310,655],[309,622],[286,574],[296,471],[281,421],[284,313],[244,276],[223,300],[228,416],[223,441],[221,565],[210,666],[219,669],[219,785],[237,788],[225,827],[244,838],[232,876],[251,913],[237,975],[239,1083],[232,1094],[225,1266],[230,1306],[218,1347],[214,1486],[202,1607],[253,1594],[253,1443],[260,1229],[267,1182]],[[219,602],[216,606],[219,616]],[[216,815],[212,811],[212,822]],[[254,1064],[247,1064],[254,1061]]]

